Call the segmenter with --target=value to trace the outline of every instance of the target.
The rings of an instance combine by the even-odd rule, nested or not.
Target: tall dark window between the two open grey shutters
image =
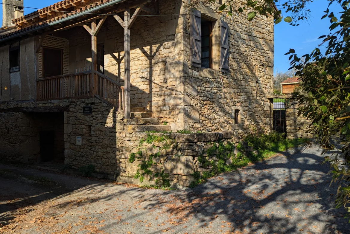
[[[203,68],[212,68],[212,22],[201,19],[201,50]]]

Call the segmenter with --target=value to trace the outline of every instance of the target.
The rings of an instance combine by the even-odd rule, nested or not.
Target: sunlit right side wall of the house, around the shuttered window
[[[184,1],[185,2],[185,1]],[[242,3],[237,1],[237,7]],[[235,4],[234,4],[235,5]],[[190,13],[188,5],[183,11]],[[270,102],[266,95],[273,91],[273,17],[258,16],[253,21],[234,11],[233,16],[218,14],[219,2],[198,3],[202,15],[229,24],[229,73],[219,71],[217,48],[213,47],[213,69],[190,67],[184,78],[183,127],[191,131],[242,129],[267,132],[270,130]],[[190,15],[184,16],[182,38],[189,63]],[[214,25],[214,23],[213,23]],[[213,31],[216,35],[215,31]],[[213,43],[217,39],[214,37]],[[242,126],[235,126],[234,111],[239,110]],[[239,125],[238,124],[238,125]]]

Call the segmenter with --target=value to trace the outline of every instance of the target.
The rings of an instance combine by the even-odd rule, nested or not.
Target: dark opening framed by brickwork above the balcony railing
[[[62,50],[43,48],[44,77],[62,75]]]

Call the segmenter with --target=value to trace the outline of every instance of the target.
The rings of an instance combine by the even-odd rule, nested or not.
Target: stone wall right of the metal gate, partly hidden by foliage
[[[302,115],[298,117],[298,111],[298,101],[289,99],[289,105],[286,109],[287,138],[313,138],[313,134],[307,133],[312,121]]]

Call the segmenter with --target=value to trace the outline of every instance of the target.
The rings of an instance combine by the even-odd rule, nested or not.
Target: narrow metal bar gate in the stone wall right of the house
[[[286,124],[286,99],[273,99],[273,125],[272,130],[278,133],[287,133]]]

